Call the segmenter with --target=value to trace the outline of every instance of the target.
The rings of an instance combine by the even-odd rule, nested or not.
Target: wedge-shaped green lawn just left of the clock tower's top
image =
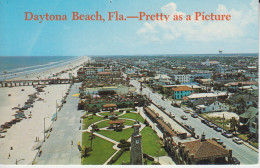
[[[102,130],[102,131],[98,131],[97,133],[119,142],[121,139],[128,140],[133,132],[134,130],[132,128],[127,128],[127,129],[123,129],[121,132],[116,132],[114,130],[112,131]]]

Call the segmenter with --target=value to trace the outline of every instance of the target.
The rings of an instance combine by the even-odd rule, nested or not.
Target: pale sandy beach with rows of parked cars
[[[73,67],[76,67],[87,60],[87,57],[82,57],[78,59],[77,62],[72,62],[69,65],[64,65],[40,73],[30,74],[28,76],[22,76],[16,79],[55,78],[52,74],[67,69],[73,69]],[[73,69],[56,77],[69,78],[69,73],[76,76],[77,69],[78,68]],[[45,128],[48,129],[51,127],[51,124],[53,124],[52,118],[56,113],[56,101],[58,105],[61,105],[62,96],[64,96],[69,89],[69,85],[70,84],[46,85],[43,88],[44,92],[39,92],[37,95],[33,107],[24,110],[26,118],[13,124],[11,128],[6,129],[6,133],[1,133],[1,135],[5,137],[0,138],[0,164],[32,164],[32,161],[38,152],[34,147],[42,143],[44,138],[44,118]],[[24,91],[22,91],[22,89]],[[0,102],[0,124],[2,125],[5,122],[14,119],[14,114],[17,109],[12,108],[18,107],[19,105],[23,106],[29,98],[28,95],[36,92],[37,91],[33,86],[0,88],[0,97],[2,100]],[[8,96],[8,94],[11,94],[11,96]],[[38,141],[36,141],[36,137],[39,137]]]

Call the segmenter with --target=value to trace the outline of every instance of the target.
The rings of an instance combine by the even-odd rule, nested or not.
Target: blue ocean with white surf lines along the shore
[[[0,80],[59,67],[76,59],[74,56],[0,56]]]

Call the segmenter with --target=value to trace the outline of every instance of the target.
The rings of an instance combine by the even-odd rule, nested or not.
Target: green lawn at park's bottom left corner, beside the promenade
[[[91,134],[84,132],[82,134],[82,148],[84,146],[90,147],[89,136]],[[115,150],[113,149],[114,144],[104,140],[98,136],[95,136],[95,139],[92,141],[92,149],[88,157],[81,159],[82,165],[102,165],[104,164],[109,157],[113,155]]]

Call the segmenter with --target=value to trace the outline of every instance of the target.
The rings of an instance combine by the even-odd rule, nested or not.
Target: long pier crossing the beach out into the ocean
[[[6,80],[0,81],[0,87],[69,84],[73,79],[38,79],[38,80]]]

